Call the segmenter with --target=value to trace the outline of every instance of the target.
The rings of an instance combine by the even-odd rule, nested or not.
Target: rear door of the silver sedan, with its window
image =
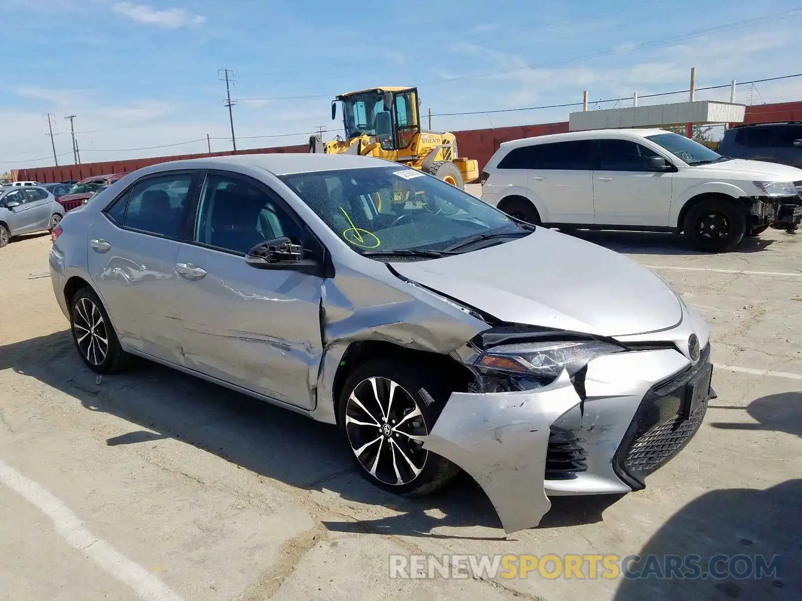
[[[95,219],[87,263],[120,340],[182,364],[176,314],[176,256],[185,240],[196,171],[147,175]]]

